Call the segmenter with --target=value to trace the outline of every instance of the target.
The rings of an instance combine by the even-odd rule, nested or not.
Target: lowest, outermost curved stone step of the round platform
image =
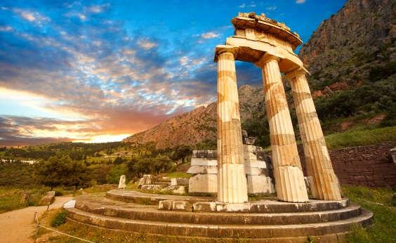
[[[310,223],[295,225],[215,225],[168,223],[155,221],[138,221],[91,214],[80,209],[66,209],[67,217],[79,223],[95,225],[113,230],[126,232],[140,232],[154,235],[178,235],[181,237],[233,237],[233,238],[261,238],[272,237],[302,237],[338,234],[350,230],[356,223],[370,223],[373,214],[362,210],[362,214],[341,221],[326,223]]]

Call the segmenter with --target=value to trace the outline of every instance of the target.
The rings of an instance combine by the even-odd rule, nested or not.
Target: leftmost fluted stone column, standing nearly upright
[[[235,57],[218,55],[218,201],[247,202]]]

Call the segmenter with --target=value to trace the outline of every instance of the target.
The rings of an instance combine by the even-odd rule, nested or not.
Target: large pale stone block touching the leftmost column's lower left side
[[[188,192],[217,193],[217,175],[198,174],[192,176],[188,183]]]

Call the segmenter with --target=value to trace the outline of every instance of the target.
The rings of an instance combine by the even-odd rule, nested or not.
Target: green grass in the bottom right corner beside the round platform
[[[346,242],[395,242],[396,202],[390,188],[343,186],[343,194],[351,202],[374,213],[373,224],[367,228],[355,225]]]

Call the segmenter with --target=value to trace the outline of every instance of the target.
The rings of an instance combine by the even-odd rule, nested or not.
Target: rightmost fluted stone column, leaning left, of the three
[[[312,196],[316,199],[340,200],[338,178],[331,165],[305,71],[299,69],[289,72],[286,76],[291,82],[307,172],[311,177]]]

